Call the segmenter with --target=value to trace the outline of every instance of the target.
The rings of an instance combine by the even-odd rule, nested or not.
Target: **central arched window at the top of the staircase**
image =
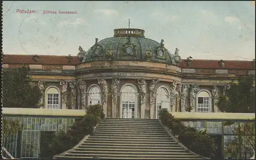
[[[121,89],[122,106],[121,118],[135,118],[136,89],[132,85],[125,85]]]

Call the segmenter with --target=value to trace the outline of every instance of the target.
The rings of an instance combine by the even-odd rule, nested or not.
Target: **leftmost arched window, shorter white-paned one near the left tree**
[[[56,87],[49,87],[46,90],[46,108],[59,109],[60,95]]]

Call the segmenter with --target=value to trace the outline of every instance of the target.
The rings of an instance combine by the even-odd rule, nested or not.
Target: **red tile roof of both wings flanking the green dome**
[[[3,58],[4,64],[51,64],[51,65],[77,65],[79,60],[77,56],[71,56],[73,59],[68,63],[66,56],[50,56],[50,55],[37,55],[40,60],[37,62],[33,60],[35,55],[5,55]],[[182,68],[212,68],[221,69],[219,66],[220,60],[204,60],[194,59],[189,66],[186,65],[183,59],[180,63]],[[223,69],[247,69],[254,70],[252,61],[245,60],[224,60],[225,66]]]

